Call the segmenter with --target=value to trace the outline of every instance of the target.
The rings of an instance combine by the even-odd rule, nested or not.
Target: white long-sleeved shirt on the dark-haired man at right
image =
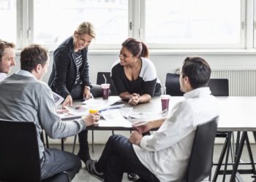
[[[208,87],[184,94],[159,130],[133,145],[140,162],[159,181],[186,181],[187,167],[198,124],[218,116],[217,98]]]

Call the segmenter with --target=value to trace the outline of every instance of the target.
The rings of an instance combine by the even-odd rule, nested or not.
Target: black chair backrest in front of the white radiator
[[[214,96],[229,96],[228,79],[210,79],[208,87]]]

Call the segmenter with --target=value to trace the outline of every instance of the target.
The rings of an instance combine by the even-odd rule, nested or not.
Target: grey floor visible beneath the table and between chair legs
[[[256,154],[256,145],[251,144],[251,146],[252,146],[252,154]],[[50,147],[56,147],[56,148],[60,149],[59,145],[51,145]],[[102,153],[103,149],[104,149],[104,145],[95,145],[94,146],[94,153],[91,152],[91,158],[92,159],[98,159],[100,154]],[[222,149],[221,144],[216,144],[214,146],[214,162],[217,162],[217,160],[219,159],[218,157],[219,157],[219,154],[221,152],[221,149]],[[72,145],[65,145],[65,150],[66,151],[72,151]],[[75,154],[77,153],[77,151],[78,151],[78,146],[75,147]],[[256,156],[255,156],[255,158],[256,158]],[[248,159],[249,159],[248,152],[246,151],[246,147],[244,147],[244,151],[243,151],[241,159],[244,162],[248,161]],[[82,162],[82,164],[83,164],[83,162]],[[214,175],[215,168],[216,167],[213,167],[212,175]],[[231,168],[231,167],[229,167],[229,168]],[[250,168],[250,166],[249,165],[244,165],[244,166],[239,167],[239,168]],[[241,175],[241,178],[243,178],[243,180],[246,181],[246,182],[250,182],[250,181],[253,181],[251,176],[252,176],[251,174],[250,175]],[[230,175],[226,175],[225,181],[229,181],[229,179],[230,179]],[[80,170],[80,172],[75,176],[75,178],[72,181],[73,182],[81,182],[81,181],[83,181],[83,182],[85,182],[85,181],[86,182],[97,182],[99,180],[97,180],[97,178],[94,178],[91,175],[89,175],[89,173],[87,173],[87,171],[85,170],[85,165],[83,164],[82,169]],[[124,174],[123,181],[124,182],[129,181],[127,179],[127,174]],[[220,181],[222,181],[222,175],[219,175],[219,177],[217,178],[217,182],[220,182]]]

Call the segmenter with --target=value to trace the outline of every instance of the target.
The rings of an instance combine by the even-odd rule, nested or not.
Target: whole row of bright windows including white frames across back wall
[[[83,21],[95,50],[131,36],[156,49],[256,48],[256,0],[0,0],[0,15],[0,39],[18,48],[55,48]]]

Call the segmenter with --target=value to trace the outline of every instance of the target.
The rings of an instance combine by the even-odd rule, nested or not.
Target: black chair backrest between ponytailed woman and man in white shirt
[[[179,84],[179,74],[166,74],[165,88],[166,94],[171,96],[183,96],[184,92],[181,92],[181,86]]]

